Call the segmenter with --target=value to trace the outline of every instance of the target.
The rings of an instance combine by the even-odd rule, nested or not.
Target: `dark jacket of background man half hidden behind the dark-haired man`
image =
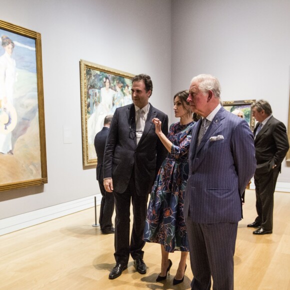
[[[94,137],[94,148],[97,157],[96,180],[99,181],[102,181],[103,154],[108,131],[108,127],[103,127]]]

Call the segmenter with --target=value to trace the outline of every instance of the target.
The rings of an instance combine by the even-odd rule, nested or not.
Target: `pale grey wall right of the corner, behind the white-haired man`
[[[210,73],[223,100],[264,98],[287,126],[290,1],[173,0],[171,9],[172,94]],[[290,162],[278,181],[290,189]]]

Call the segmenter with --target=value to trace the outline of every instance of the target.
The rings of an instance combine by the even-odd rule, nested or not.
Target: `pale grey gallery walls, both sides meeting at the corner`
[[[286,124],[289,10],[288,0],[1,1],[1,20],[41,33],[48,184],[0,192],[0,219],[99,192],[82,168],[80,59],[150,74],[150,101],[171,122],[172,95],[205,72],[223,100],[263,97]],[[278,181],[290,183],[285,161]]]

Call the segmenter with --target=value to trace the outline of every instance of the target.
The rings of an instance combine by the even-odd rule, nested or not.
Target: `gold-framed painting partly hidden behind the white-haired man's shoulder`
[[[252,115],[251,104],[254,102],[255,99],[226,100],[222,102],[222,105],[229,112],[232,112],[235,109],[241,110],[244,113],[244,119],[247,121],[251,131],[253,131],[255,118]]]

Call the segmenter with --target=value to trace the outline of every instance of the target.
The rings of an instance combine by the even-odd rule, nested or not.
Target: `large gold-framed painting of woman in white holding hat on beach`
[[[0,191],[47,183],[41,35],[0,20]]]

